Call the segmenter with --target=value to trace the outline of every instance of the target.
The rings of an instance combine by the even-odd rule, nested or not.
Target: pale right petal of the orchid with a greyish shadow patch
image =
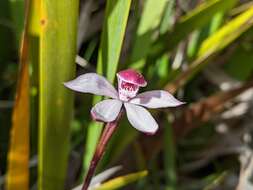
[[[164,90],[152,90],[138,94],[130,100],[130,103],[147,108],[176,107],[184,104],[184,102],[177,100],[172,94]]]

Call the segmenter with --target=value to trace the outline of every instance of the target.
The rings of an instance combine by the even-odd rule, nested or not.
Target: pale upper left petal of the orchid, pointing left
[[[76,79],[64,83],[72,90],[84,93],[91,93],[111,98],[118,98],[118,92],[103,76],[96,73],[80,75]]]

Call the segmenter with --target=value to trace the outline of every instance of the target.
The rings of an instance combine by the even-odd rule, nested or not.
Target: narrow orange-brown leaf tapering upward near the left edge
[[[24,34],[20,54],[20,72],[16,90],[15,106],[12,113],[10,149],[8,153],[7,190],[29,189],[29,34],[28,15],[30,4],[26,6]]]

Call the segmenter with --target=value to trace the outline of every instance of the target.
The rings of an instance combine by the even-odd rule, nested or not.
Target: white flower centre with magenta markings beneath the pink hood
[[[122,101],[128,101],[136,96],[139,86],[123,80],[118,80],[119,99]]]

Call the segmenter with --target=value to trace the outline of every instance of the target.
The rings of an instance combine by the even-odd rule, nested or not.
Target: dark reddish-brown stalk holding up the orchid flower
[[[102,156],[103,156],[103,154],[106,150],[107,144],[108,144],[109,140],[111,139],[112,135],[114,134],[114,132],[115,132],[117,126],[118,126],[118,122],[121,118],[122,112],[123,111],[121,110],[121,112],[118,115],[118,117],[116,118],[116,120],[114,120],[112,122],[108,122],[105,125],[103,133],[102,133],[102,135],[99,139],[99,142],[97,144],[95,153],[92,157],[88,172],[87,172],[85,180],[84,180],[82,190],[87,190],[88,189],[88,187],[90,185],[90,182],[91,182],[91,179],[92,179],[92,176],[94,175],[96,167],[98,165],[98,162],[101,160],[101,158],[102,158]]]

